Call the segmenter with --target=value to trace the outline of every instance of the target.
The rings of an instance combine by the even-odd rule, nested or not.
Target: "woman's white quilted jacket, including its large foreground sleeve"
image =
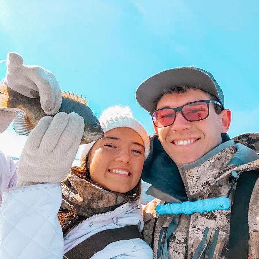
[[[11,176],[10,170],[9,173]],[[144,226],[141,206],[138,209],[136,204],[126,203],[112,212],[87,218],[63,238],[57,218],[62,201],[60,184],[10,188],[2,198],[0,258],[4,259],[63,258],[64,253],[99,231],[127,225],[138,225],[142,231]],[[121,240],[107,245],[92,258],[153,258],[153,251],[142,239]]]

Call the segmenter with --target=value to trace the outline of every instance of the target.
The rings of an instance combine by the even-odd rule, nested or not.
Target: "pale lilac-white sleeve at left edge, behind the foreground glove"
[[[16,186],[18,180],[16,174],[17,164],[14,163],[11,157],[5,155],[0,151],[0,206],[2,203],[3,192],[8,188]]]

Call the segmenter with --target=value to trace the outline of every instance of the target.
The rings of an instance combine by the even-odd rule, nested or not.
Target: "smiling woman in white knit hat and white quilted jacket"
[[[55,134],[61,133],[59,138],[62,139],[56,146],[60,144],[64,147],[59,152],[64,159],[59,161],[55,148],[51,148],[51,152],[47,151],[48,145],[52,145],[56,139],[55,134],[50,134],[49,128],[59,125],[57,122],[66,121],[66,118],[67,126],[55,127]],[[49,117],[44,117],[28,136],[26,145],[35,144],[35,138],[39,140],[39,135],[40,139],[43,139],[40,144],[36,143],[37,147],[33,149],[36,157],[31,158],[30,164],[43,164],[44,177],[47,171],[50,171],[49,161],[58,168],[60,166],[62,172],[68,173],[70,167],[66,170],[64,165],[67,164],[68,155],[75,154],[78,149],[83,134],[83,119],[75,113],[58,113],[53,119],[56,124],[52,123],[50,117],[49,126],[46,119]],[[18,187],[9,189],[2,203],[3,207],[12,204],[12,207],[17,207],[18,210],[14,213],[13,208],[7,205],[8,209],[0,215],[0,225],[4,226],[0,228],[1,258],[7,258],[7,254],[12,254],[12,258],[26,259],[50,258],[53,254],[57,258],[64,256],[70,259],[81,258],[82,254],[93,259],[153,258],[152,249],[140,235],[144,221],[142,206],[138,204],[141,196],[142,168],[150,152],[148,134],[132,117],[128,107],[108,108],[102,113],[99,121],[105,133],[104,137],[81,145],[81,165],[73,166],[66,178],[61,178],[64,179],[61,188],[56,178],[52,182],[49,178],[39,180],[33,178],[33,173],[26,178],[27,182],[23,180],[22,172],[26,170],[22,165],[30,165],[23,162],[27,153],[22,153],[18,168]],[[42,126],[45,127],[45,134],[42,134]],[[77,128],[81,131],[77,131]],[[73,138],[73,134],[77,139]],[[74,151],[67,148],[67,142],[74,144]],[[41,146],[45,147],[42,156],[36,154]],[[31,153],[29,156],[31,157]],[[46,157],[49,159],[47,162]],[[53,170],[53,174],[57,176],[58,170]],[[45,180],[48,183],[42,183]],[[12,199],[14,193],[19,198],[10,203],[9,199]],[[31,205],[28,205],[30,202]],[[7,224],[5,218],[10,218],[10,214],[13,215],[12,222]],[[22,222],[22,228],[19,228],[19,233],[13,234],[7,228],[16,225],[15,222]],[[22,239],[24,235],[26,239]],[[23,244],[17,246],[17,242],[4,242],[14,239],[22,240]],[[1,249],[3,243],[6,244],[5,249]],[[20,254],[24,257],[20,257]]]

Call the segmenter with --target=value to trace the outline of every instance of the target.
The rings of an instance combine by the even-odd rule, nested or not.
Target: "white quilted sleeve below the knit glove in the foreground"
[[[8,189],[0,209],[0,258],[63,258],[59,183]]]

